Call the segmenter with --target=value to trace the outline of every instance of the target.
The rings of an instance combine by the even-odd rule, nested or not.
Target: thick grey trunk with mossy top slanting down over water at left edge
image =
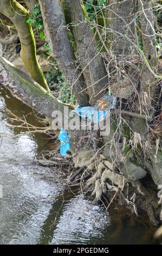
[[[63,113],[63,104],[51,96],[40,84],[0,56],[0,84],[10,90],[14,97],[51,118],[54,110]]]

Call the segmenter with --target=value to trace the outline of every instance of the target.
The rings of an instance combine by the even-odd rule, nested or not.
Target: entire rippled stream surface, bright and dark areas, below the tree
[[[64,192],[62,176],[36,164],[47,136],[11,127],[5,109],[40,126],[32,109],[0,90],[0,244],[154,244],[147,216],[105,211]],[[62,200],[63,198],[63,200]]]

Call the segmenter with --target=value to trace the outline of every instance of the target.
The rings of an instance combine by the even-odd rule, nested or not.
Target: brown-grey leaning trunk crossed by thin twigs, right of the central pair
[[[92,28],[86,20],[81,0],[66,0],[64,4],[76,43],[75,54],[85,78],[90,103],[93,104],[107,89],[107,73],[96,46],[95,27]]]

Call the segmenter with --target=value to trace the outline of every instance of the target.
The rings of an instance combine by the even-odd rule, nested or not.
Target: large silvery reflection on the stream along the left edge
[[[18,101],[12,100],[12,104],[15,106]],[[23,133],[12,137],[15,131],[8,126],[3,97],[0,98],[0,106],[0,183],[3,186],[0,242],[39,243],[43,222],[54,197],[62,190],[61,182],[52,169],[36,165],[37,143],[34,137]],[[27,108],[27,113],[30,110]],[[44,175],[53,175],[58,183],[49,182]]]

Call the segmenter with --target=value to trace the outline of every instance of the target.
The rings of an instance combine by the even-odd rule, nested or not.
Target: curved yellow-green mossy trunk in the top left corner
[[[21,41],[21,58],[29,76],[49,91],[43,71],[36,58],[36,45],[31,25],[27,24],[28,11],[15,0],[3,0],[0,12],[15,25]]]

